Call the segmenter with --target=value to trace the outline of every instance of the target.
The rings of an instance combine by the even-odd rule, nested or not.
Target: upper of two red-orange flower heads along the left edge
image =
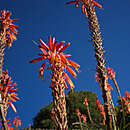
[[[2,10],[0,11],[0,29],[1,29],[1,35],[0,39],[3,39],[4,37],[4,43],[11,47],[12,42],[14,40],[17,40],[15,34],[18,33],[16,28],[18,28],[17,25],[14,25],[12,22],[16,21],[16,19],[10,19],[11,13],[9,11]]]

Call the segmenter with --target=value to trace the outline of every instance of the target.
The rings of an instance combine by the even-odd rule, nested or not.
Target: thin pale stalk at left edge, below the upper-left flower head
[[[4,50],[5,50],[5,30],[1,30],[0,31],[0,83],[2,82],[2,67],[3,67],[3,57],[4,57]],[[2,86],[1,86],[2,87]],[[4,128],[4,130],[8,130],[8,125],[6,122],[6,117],[5,117],[5,113],[4,113],[4,106],[3,106],[3,101],[2,101],[2,95],[0,92],[0,117],[2,120],[2,126]]]

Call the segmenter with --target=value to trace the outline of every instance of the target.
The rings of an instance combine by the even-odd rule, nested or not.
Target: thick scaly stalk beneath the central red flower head
[[[68,130],[67,126],[67,113],[66,113],[66,100],[63,85],[63,74],[61,62],[55,63],[52,71],[52,96],[54,103],[54,121],[57,130]]]

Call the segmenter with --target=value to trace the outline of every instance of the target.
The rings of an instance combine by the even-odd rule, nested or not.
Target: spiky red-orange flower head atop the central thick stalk
[[[40,42],[41,44],[37,45],[42,52],[38,54],[40,57],[30,61],[30,63],[34,63],[42,60],[44,61],[44,63],[41,65],[39,69],[39,77],[44,80],[44,69],[47,64],[50,65],[48,69],[52,70],[52,73],[58,68],[58,66],[61,66],[62,78],[60,79],[60,84],[63,83],[64,86],[66,86],[66,82],[65,82],[66,80],[69,86],[71,87],[71,89],[74,88],[73,82],[67,75],[66,71],[68,71],[74,78],[76,78],[77,74],[74,72],[74,70],[72,70],[71,67],[73,67],[75,70],[78,71],[80,65],[78,65],[74,61],[67,59],[67,57],[70,57],[71,55],[66,55],[63,53],[63,51],[70,45],[70,43],[65,44],[65,41],[61,41],[58,43],[57,41],[55,41],[54,37],[53,39],[51,39],[50,35],[48,39],[48,46],[41,39]],[[58,80],[59,79],[57,79],[57,81]],[[55,78],[52,77],[52,81],[56,82]],[[53,85],[51,87],[53,87]],[[66,86],[65,88],[67,89],[68,87]]]

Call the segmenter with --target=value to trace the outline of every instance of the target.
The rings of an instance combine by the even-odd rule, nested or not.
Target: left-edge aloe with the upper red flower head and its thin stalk
[[[16,28],[17,25],[14,25],[12,22],[16,21],[16,19],[11,19],[11,12],[2,10],[0,11],[0,83],[2,82],[2,67],[3,67],[3,57],[4,57],[4,50],[5,47],[11,47],[14,40],[16,40],[15,34],[18,33]],[[2,87],[2,86],[1,86]],[[7,128],[7,123],[4,115],[3,110],[3,101],[1,97],[1,91],[0,91],[0,116],[2,119],[2,124],[4,129]]]

